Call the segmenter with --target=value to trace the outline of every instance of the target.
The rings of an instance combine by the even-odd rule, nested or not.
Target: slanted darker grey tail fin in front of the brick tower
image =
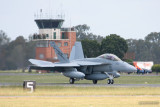
[[[50,46],[54,48],[59,62],[62,62],[62,63],[69,62],[69,60],[66,57],[66,55],[60,50],[60,48],[55,44],[55,42],[50,42]]]

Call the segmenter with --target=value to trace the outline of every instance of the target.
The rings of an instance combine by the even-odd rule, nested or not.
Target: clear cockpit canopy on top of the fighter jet
[[[108,59],[108,60],[112,60],[112,61],[121,61],[121,59],[118,58],[114,54],[103,54],[103,55],[98,56],[98,58]]]

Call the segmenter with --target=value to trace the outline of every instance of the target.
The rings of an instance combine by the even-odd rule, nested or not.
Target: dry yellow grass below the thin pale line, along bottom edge
[[[1,107],[159,107],[158,97],[0,98]]]

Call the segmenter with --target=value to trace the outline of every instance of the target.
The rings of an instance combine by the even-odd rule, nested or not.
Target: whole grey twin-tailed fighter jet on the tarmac
[[[120,77],[119,72],[131,73],[137,70],[114,54],[106,53],[96,58],[84,58],[81,42],[76,42],[72,47],[69,59],[55,42],[50,42],[50,46],[54,48],[59,62],[29,59],[33,64],[29,69],[61,72],[64,76],[70,78],[70,84],[83,79],[92,80],[93,84],[97,84],[98,80],[107,78],[108,84],[114,84],[114,78]]]

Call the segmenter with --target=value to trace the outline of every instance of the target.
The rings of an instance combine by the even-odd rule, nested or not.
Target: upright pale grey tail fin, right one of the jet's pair
[[[84,58],[84,54],[83,54],[82,44],[81,42],[75,42],[74,46],[72,47],[69,60],[71,61],[71,60],[83,59],[83,58]]]

